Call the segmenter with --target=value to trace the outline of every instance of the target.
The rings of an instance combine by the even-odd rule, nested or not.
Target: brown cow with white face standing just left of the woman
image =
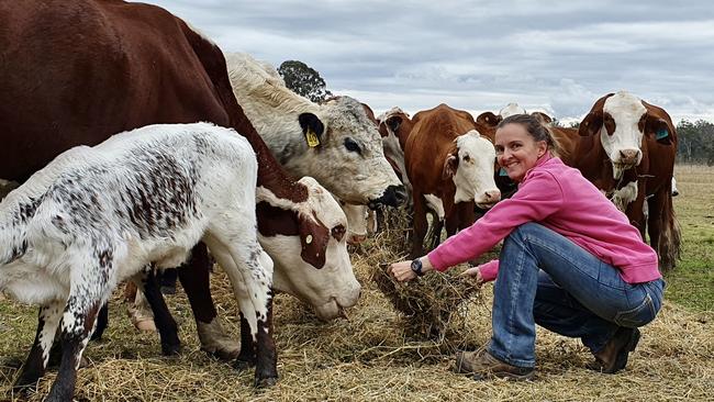
[[[468,112],[439,104],[416,113],[412,122],[404,156],[414,191],[412,257],[417,257],[424,252],[427,197],[440,201],[453,235],[473,223],[475,203],[491,206],[501,192],[493,181],[493,143],[475,130]]]

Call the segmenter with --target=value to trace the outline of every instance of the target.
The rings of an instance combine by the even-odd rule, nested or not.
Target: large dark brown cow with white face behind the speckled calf
[[[270,239],[263,247],[282,247],[283,254],[271,255],[276,266],[282,260],[285,267],[309,265],[322,271],[313,289],[324,290],[328,316],[354,303],[358,292],[339,301],[342,288],[333,289],[328,280],[342,273],[331,264],[345,267],[330,257],[331,249],[345,247],[342,211],[328,196],[315,196],[324,189],[314,181],[294,181],[282,170],[237,104],[215,44],[166,10],[123,1],[2,2],[0,26],[0,75],[5,78],[0,91],[0,178],[22,182],[63,150],[148,124],[209,121],[234,127],[257,154],[257,201],[280,211],[281,223],[290,226],[272,226],[258,211],[258,226],[268,231],[261,235]],[[288,238],[290,248],[285,246]],[[287,249],[294,252],[285,254]],[[194,269],[181,269],[179,276],[203,347],[231,355],[235,349],[215,342],[226,336],[210,297],[205,246],[193,249],[189,264]],[[91,322],[93,317],[89,328]],[[257,365],[258,383],[277,378],[271,322],[270,309],[259,331],[242,320],[246,342],[238,361]],[[40,321],[37,339],[15,381],[19,388],[36,383],[44,373],[48,350],[38,342],[42,326]],[[161,344],[165,353],[178,350],[175,334],[161,333]]]

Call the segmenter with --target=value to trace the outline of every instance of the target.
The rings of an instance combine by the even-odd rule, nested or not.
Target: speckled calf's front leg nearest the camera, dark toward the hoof
[[[100,269],[91,267],[81,272],[82,278],[72,282],[62,317],[62,362],[57,379],[45,401],[71,401],[75,395],[77,370],[87,347],[99,309],[109,298],[110,289],[99,277]]]

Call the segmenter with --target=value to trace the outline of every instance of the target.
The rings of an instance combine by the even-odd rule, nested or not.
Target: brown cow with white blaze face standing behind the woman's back
[[[595,102],[579,133],[573,166],[622,204],[643,238],[647,227],[662,269],[674,267],[680,255],[671,191],[677,131],[669,114],[628,92],[609,93]]]

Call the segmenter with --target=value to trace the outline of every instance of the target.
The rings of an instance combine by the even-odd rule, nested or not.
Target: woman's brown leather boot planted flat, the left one
[[[454,371],[472,373],[475,380],[505,378],[522,381],[533,378],[535,369],[517,367],[503,362],[491,356],[486,349],[477,351],[458,351]]]

